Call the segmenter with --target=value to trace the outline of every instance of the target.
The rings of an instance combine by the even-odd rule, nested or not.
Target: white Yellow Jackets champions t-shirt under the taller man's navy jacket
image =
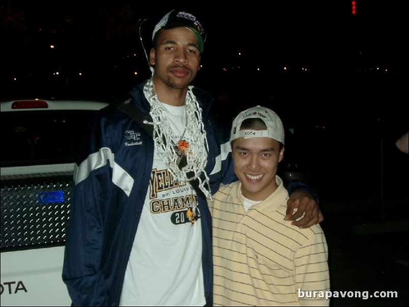
[[[163,106],[176,119],[168,117],[177,143],[185,130],[185,107]],[[188,132],[184,139],[189,141]],[[154,157],[120,306],[203,306],[201,224],[186,216],[186,203],[195,201],[196,192],[173,179],[156,149]]]

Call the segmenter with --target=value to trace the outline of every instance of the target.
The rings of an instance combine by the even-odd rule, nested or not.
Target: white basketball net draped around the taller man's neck
[[[143,93],[150,104],[150,116],[153,122],[148,122],[154,125],[154,141],[158,155],[165,162],[169,172],[179,182],[189,182],[198,178],[199,188],[203,191],[208,199],[212,199],[212,194],[209,185],[209,176],[204,170],[207,164],[208,143],[206,139],[206,131],[204,130],[201,117],[202,109],[197,103],[196,96],[192,92],[193,86],[189,86],[185,100],[185,112],[187,114],[186,133],[190,136],[189,147],[187,149],[187,165],[179,168],[178,162],[180,156],[177,153],[177,144],[171,140],[172,131],[169,125],[169,113],[162,106],[155,91],[155,85],[150,78],[143,87]],[[164,141],[165,140],[165,141]],[[193,172],[192,177],[187,176],[188,172]],[[201,180],[200,174],[205,176],[204,181]],[[208,188],[204,185],[207,184]]]

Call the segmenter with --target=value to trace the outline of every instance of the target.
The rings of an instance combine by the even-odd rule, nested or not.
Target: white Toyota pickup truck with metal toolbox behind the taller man
[[[89,100],[1,101],[1,305],[70,306],[62,281],[73,157]]]

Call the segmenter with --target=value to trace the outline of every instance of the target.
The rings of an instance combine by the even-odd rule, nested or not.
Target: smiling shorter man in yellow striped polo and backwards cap
[[[233,121],[231,146],[239,178],[209,202],[213,217],[214,305],[322,305],[329,300],[328,249],[321,226],[285,221],[288,192],[276,175],[284,126],[265,107]],[[303,293],[299,297],[298,293]]]

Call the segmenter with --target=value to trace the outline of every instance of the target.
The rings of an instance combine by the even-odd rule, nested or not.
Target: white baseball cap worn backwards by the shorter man
[[[260,118],[267,126],[267,130],[240,130],[243,120],[247,118]],[[271,109],[256,106],[244,110],[233,120],[230,141],[237,138],[271,138],[284,144],[284,126],[278,115]]]

